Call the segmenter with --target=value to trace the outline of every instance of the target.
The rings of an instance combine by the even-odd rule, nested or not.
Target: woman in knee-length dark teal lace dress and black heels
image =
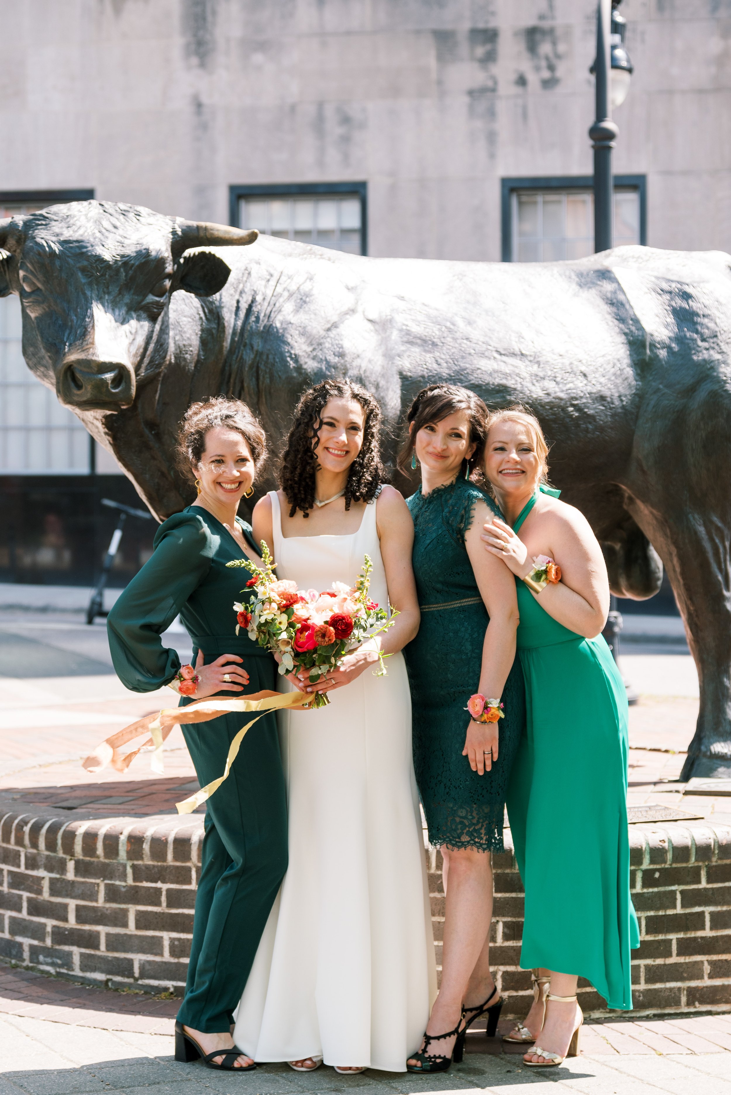
[[[412,1072],[461,1060],[466,1026],[488,1012],[494,1034],[501,1002],[490,972],[490,853],[502,851],[507,777],[525,721],[515,659],[515,584],[498,560],[486,568],[480,542],[490,514],[469,481],[482,456],[487,408],[464,388],[424,389],[409,414],[402,461],[421,466],[408,499],[421,626],[404,648],[413,713],[413,756],[429,835],[447,865],[442,987]],[[470,719],[480,693],[502,702],[498,722]],[[499,708],[500,710],[500,708]],[[462,1010],[465,1018],[462,1019]]]

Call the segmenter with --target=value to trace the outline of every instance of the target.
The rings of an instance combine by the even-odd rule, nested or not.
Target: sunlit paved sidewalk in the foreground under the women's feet
[[[286,1064],[264,1064],[233,1077],[173,1060],[176,1010],[178,1001],[87,989],[0,966],[0,1093],[204,1095],[230,1093],[236,1085],[250,1095],[315,1095],[351,1087],[373,1095],[411,1095],[505,1087],[527,1092],[550,1081],[558,1091],[586,1095],[688,1090],[731,1095],[731,1014],[587,1023],[582,1054],[552,1070],[526,1069],[519,1047],[478,1030],[468,1039],[464,1063],[431,1077],[373,1069],[345,1077],[327,1067],[302,1074]],[[511,1026],[501,1021],[500,1033]]]

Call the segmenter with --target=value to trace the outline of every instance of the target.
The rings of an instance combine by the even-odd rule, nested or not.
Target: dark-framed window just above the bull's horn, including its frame
[[[231,186],[231,223],[318,247],[366,254],[366,184]]]

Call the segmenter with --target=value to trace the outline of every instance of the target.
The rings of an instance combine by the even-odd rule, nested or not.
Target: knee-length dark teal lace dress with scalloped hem
[[[503,850],[507,779],[525,724],[518,659],[503,689],[500,750],[492,771],[478,775],[462,757],[467,701],[477,692],[489,623],[465,546],[478,502],[494,504],[458,477],[424,497],[407,499],[414,522],[413,568],[421,626],[406,647],[411,685],[413,758],[429,839],[447,848]]]

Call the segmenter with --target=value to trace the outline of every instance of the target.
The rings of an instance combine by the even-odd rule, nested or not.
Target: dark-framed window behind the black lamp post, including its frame
[[[503,262],[556,262],[594,253],[591,176],[502,180]],[[644,175],[615,176],[614,243],[644,244]]]

